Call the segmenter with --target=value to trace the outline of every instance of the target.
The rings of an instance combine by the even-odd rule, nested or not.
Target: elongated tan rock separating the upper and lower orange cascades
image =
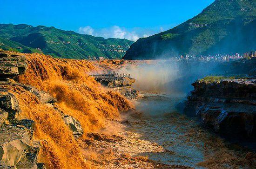
[[[42,104],[56,102],[56,99],[45,91],[40,91],[37,88],[30,86],[30,85],[25,85],[25,84],[17,84],[17,85],[23,87],[25,90],[31,92],[36,97],[38,97]]]

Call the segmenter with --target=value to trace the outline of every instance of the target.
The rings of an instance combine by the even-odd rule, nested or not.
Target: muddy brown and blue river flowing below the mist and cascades
[[[203,127],[198,118],[177,111],[176,104],[184,98],[182,94],[141,93],[136,99],[139,113],[128,117],[128,130],[164,149],[138,155],[159,163],[193,168],[248,168],[247,150],[241,150],[238,144],[228,143]]]

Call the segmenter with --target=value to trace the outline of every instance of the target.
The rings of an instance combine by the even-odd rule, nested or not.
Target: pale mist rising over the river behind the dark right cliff
[[[122,68],[119,73],[129,73],[131,78],[135,78],[133,87],[139,91],[186,95],[193,90],[191,84],[195,80],[223,74],[220,65],[217,62],[155,60]]]

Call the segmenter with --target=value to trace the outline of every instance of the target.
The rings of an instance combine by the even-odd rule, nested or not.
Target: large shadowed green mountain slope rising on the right
[[[231,54],[255,49],[256,0],[216,0],[202,13],[179,26],[138,39],[124,58]]]

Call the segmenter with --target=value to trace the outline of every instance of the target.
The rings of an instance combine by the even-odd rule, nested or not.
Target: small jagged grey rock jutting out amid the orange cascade
[[[73,131],[73,135],[75,137],[79,137],[84,133],[81,127],[81,123],[78,120],[76,120],[74,117],[64,115],[63,120]]]

